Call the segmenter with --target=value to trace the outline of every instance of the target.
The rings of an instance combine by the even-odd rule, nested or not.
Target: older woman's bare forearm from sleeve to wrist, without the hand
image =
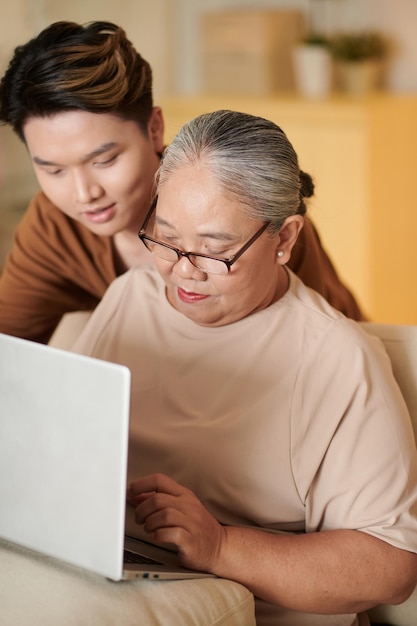
[[[238,570],[239,582],[255,595],[308,613],[397,604],[417,582],[416,554],[356,530],[273,536],[225,528],[218,562],[219,575]]]

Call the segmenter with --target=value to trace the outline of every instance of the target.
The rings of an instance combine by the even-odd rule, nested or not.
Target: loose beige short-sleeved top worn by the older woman
[[[417,552],[413,432],[384,348],[290,276],[281,300],[217,328],[176,311],[154,270],[111,285],[74,350],[131,369],[129,479],[165,472],[225,524],[359,529]],[[355,623],[257,611],[262,626]]]

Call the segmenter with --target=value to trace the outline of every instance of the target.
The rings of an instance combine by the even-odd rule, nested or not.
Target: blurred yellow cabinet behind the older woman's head
[[[377,322],[417,324],[417,95],[167,97],[166,139],[228,108],[273,120],[316,183],[310,215],[341,277]]]

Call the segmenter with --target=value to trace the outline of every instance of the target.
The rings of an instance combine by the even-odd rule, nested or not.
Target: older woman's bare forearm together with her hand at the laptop
[[[307,613],[356,613],[404,601],[417,555],[358,530],[272,534],[225,527],[188,489],[162,474],[134,481],[128,500],[156,542],[184,565],[245,585],[268,602]]]

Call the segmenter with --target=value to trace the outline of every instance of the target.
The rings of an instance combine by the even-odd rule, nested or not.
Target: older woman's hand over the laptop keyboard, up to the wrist
[[[151,474],[129,485],[127,500],[136,522],[156,542],[174,544],[184,566],[215,573],[225,531],[190,489]]]

